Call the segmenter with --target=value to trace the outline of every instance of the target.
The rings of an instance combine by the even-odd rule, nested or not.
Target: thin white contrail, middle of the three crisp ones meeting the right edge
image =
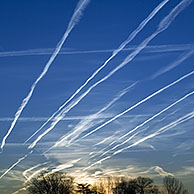
[[[162,113],[166,112],[167,110],[169,110],[170,108],[172,108],[173,106],[175,106],[176,104],[178,104],[179,102],[185,100],[186,98],[190,97],[191,95],[194,94],[194,91],[186,94],[185,96],[183,96],[182,98],[178,99],[177,101],[175,101],[174,103],[170,104],[168,107],[162,109],[160,112],[156,113],[155,115],[153,115],[152,117],[150,117],[149,119],[147,119],[146,121],[144,121],[143,123],[139,124],[138,126],[136,126],[135,128],[133,128],[132,130],[130,130],[128,133],[126,133],[125,135],[121,136],[118,141],[122,140],[123,138],[125,138],[126,136],[130,135],[131,133],[133,133],[134,131],[138,130],[140,127],[143,127],[145,124],[149,123],[150,121],[152,121],[153,119],[155,119],[156,117],[158,117],[159,115],[161,115]],[[111,150],[115,150],[116,148],[124,145],[125,143],[129,142],[131,140],[131,138],[125,140],[124,142],[114,146]]]

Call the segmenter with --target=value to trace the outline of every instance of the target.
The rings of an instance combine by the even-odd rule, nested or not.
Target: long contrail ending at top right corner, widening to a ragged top
[[[166,30],[169,25],[173,22],[173,20],[176,18],[176,16],[185,8],[187,7],[190,3],[192,2],[192,0],[183,0],[181,3],[179,3],[160,23],[159,26],[157,28],[157,30],[148,38],[146,38],[138,47],[137,49],[132,52],[130,55],[128,55],[124,61],[118,65],[115,69],[113,69],[110,73],[108,73],[105,77],[103,77],[102,79],[100,79],[98,82],[96,82],[95,84],[93,84],[85,93],[83,93],[79,98],[77,98],[77,100],[74,100],[68,107],[64,108],[56,117],[55,117],[55,121],[53,121],[51,123],[51,126],[44,131],[41,135],[39,135],[37,137],[37,139],[28,147],[29,149],[33,148],[38,141],[40,141],[42,139],[43,136],[45,136],[47,133],[49,133],[56,125],[57,123],[73,108],[75,107],[93,88],[95,88],[96,86],[98,86],[100,83],[104,82],[105,80],[107,80],[109,77],[111,77],[114,73],[116,73],[119,69],[121,69],[122,67],[124,67],[126,64],[128,64],[130,61],[133,60],[133,58],[135,58],[146,46],[147,44],[153,39],[155,38],[159,33],[161,33],[162,31]],[[122,44],[121,44],[122,45]],[[113,54],[116,53],[113,52]],[[108,59],[110,60],[110,59]],[[108,61],[107,60],[107,61]],[[97,70],[100,71],[100,68]],[[90,78],[89,78],[90,79]],[[80,88],[79,88],[80,89]],[[78,89],[78,90],[79,90]],[[71,97],[72,98],[72,97]],[[70,98],[70,99],[71,99]],[[67,102],[65,102],[66,104]],[[63,107],[64,105],[62,105]],[[61,109],[61,107],[59,108]],[[59,110],[58,110],[59,111]],[[55,113],[54,113],[55,114]],[[51,116],[52,118],[52,116]],[[86,135],[87,136],[87,135]],[[84,137],[86,137],[84,136]]]

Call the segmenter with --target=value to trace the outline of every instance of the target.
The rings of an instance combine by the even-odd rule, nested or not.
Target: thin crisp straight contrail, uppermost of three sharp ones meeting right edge
[[[139,101],[138,103],[136,103],[135,105],[129,107],[128,109],[126,109],[125,111],[117,114],[116,116],[114,116],[112,119],[106,121],[104,124],[100,125],[99,127],[97,127],[96,129],[90,131],[89,133],[87,133],[86,135],[84,135],[83,137],[81,137],[80,139],[83,139],[89,135],[91,135],[92,133],[98,131],[99,129],[101,129],[102,127],[108,125],[109,123],[113,122],[114,120],[118,119],[119,117],[123,116],[124,114],[126,114],[127,112],[129,112],[130,110],[133,110],[134,108],[136,108],[137,106],[141,105],[142,103],[146,102],[147,100],[149,100],[150,98],[156,96],[157,94],[163,92],[164,90],[168,89],[169,87],[175,85],[176,83],[182,81],[183,79],[187,78],[188,76],[190,75],[193,75],[194,74],[194,71],[191,71],[190,73],[182,76],[181,78],[177,79],[176,81],[168,84],[167,86],[157,90],[156,92],[152,93],[151,95],[149,95],[148,97],[144,98],[143,100]]]

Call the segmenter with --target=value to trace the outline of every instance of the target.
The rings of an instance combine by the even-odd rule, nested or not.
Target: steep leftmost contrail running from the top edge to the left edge
[[[36,85],[43,78],[43,76],[47,73],[49,67],[51,66],[52,62],[55,60],[56,56],[58,55],[59,51],[61,50],[61,47],[63,46],[63,44],[65,42],[65,40],[69,36],[69,33],[72,31],[72,29],[74,28],[74,26],[78,22],[81,14],[82,14],[82,11],[84,10],[84,8],[87,6],[88,3],[89,3],[89,0],[80,0],[78,2],[78,6],[76,7],[76,9],[73,13],[73,16],[72,16],[72,18],[71,18],[71,20],[68,24],[68,27],[67,27],[67,30],[66,30],[65,34],[63,35],[62,39],[57,44],[57,47],[55,48],[55,51],[51,55],[51,57],[50,57],[49,61],[47,62],[47,64],[45,65],[42,73],[38,76],[36,81],[32,84],[30,92],[23,99],[22,104],[20,105],[17,112],[15,113],[15,118],[14,118],[13,122],[11,123],[11,127],[9,128],[7,134],[4,136],[4,138],[2,140],[2,143],[1,143],[1,149],[2,150],[3,150],[3,147],[5,146],[5,142],[6,142],[7,137],[10,135],[11,131],[13,130],[13,128],[14,128],[20,114],[22,113],[23,109],[28,104],[28,101],[30,100],[30,98],[31,98],[31,96],[34,92],[34,89],[36,88]]]

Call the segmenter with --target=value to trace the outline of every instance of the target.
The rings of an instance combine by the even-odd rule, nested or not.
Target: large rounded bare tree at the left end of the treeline
[[[28,187],[29,194],[71,194],[73,178],[61,173],[42,173]]]

